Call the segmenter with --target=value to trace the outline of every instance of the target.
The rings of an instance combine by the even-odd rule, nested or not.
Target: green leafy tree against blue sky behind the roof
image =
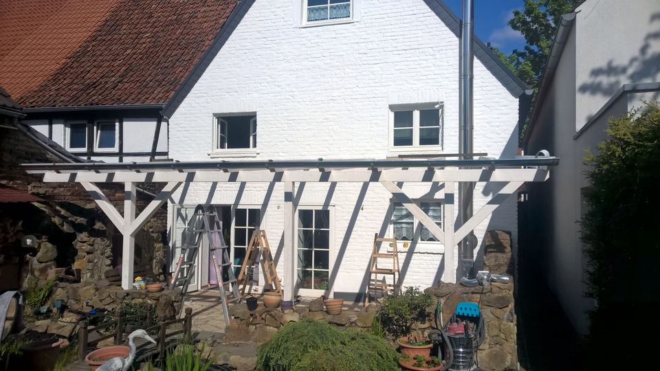
[[[523,10],[514,10],[514,17],[509,21],[509,27],[525,37],[525,47],[514,49],[509,55],[497,48],[493,51],[520,80],[536,91],[560,17],[582,1],[525,0]]]

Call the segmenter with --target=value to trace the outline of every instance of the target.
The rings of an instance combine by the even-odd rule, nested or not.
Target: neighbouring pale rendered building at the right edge
[[[578,333],[588,331],[586,257],[580,219],[586,211],[585,150],[606,139],[610,117],[660,97],[660,2],[586,0],[564,14],[525,133],[529,154],[547,149],[560,165],[546,183],[531,183],[522,227],[529,254]]]

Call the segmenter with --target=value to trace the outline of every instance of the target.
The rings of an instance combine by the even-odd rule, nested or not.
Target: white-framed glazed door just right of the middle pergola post
[[[330,293],[333,267],[333,207],[298,207],[296,278],[298,293]]]

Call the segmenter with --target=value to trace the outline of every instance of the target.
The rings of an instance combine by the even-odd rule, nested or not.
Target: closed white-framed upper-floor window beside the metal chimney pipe
[[[439,103],[390,106],[390,150],[441,150],[442,106]]]

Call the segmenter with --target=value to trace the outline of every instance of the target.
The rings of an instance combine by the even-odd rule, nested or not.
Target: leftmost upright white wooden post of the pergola
[[[124,183],[124,230],[122,242],[122,288],[133,287],[133,261],[135,260],[135,234],[132,232],[135,220],[135,183]]]

